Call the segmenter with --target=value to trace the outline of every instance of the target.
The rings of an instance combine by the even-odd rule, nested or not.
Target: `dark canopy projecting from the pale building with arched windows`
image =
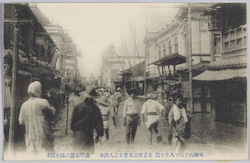
[[[174,53],[174,54],[170,54],[167,55],[164,58],[161,58],[155,62],[152,62],[148,65],[157,65],[157,66],[167,66],[167,65],[178,65],[178,64],[182,64],[182,63],[186,63],[186,57],[182,56],[180,54]]]

